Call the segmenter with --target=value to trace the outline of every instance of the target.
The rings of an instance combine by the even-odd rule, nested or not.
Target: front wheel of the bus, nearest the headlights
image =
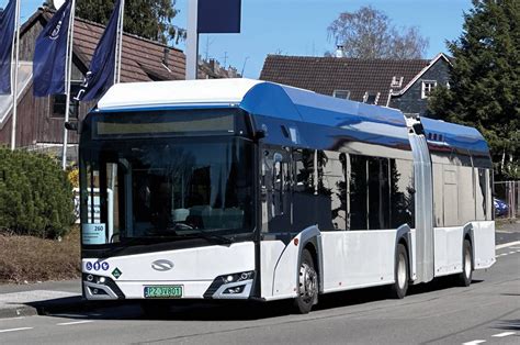
[[[294,300],[295,312],[307,314],[318,302],[318,274],[313,256],[307,249],[303,251],[299,261],[297,293]]]

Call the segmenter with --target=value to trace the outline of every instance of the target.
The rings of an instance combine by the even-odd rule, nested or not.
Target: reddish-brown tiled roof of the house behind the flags
[[[38,9],[24,24],[22,32],[38,19],[48,22],[53,14],[52,10]],[[83,65],[79,66],[82,73],[87,71],[104,29],[104,25],[75,19],[74,53]],[[125,33],[122,59],[122,82],[184,79],[185,55],[159,42]]]

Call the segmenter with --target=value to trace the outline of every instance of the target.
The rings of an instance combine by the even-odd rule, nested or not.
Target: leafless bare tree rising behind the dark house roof
[[[329,40],[342,45],[348,57],[420,58],[428,48],[428,38],[418,27],[396,27],[384,12],[372,7],[340,13],[327,31]]]

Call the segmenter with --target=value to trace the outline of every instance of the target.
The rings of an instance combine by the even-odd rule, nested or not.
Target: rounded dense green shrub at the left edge
[[[67,175],[50,156],[0,147],[0,229],[56,238],[74,222]]]

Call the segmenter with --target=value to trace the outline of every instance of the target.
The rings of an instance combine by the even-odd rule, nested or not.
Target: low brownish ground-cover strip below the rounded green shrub
[[[63,241],[0,233],[0,282],[35,282],[80,276],[79,227]]]

